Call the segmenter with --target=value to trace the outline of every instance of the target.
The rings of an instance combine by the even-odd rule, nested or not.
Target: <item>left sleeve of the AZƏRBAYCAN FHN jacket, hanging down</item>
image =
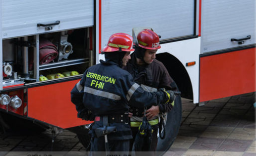
[[[84,96],[84,82],[85,82],[85,76],[86,73],[84,73],[82,79],[75,85],[75,87],[71,91],[71,102],[76,105],[76,109],[78,112],[85,109],[83,104],[83,96]]]

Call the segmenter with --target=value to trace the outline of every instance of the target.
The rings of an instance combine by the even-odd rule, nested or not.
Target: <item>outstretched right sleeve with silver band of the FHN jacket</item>
[[[129,105],[134,107],[150,107],[152,105],[158,105],[165,103],[168,100],[168,96],[163,91],[147,92],[139,84],[133,81],[132,75],[128,75],[124,87],[126,99]]]

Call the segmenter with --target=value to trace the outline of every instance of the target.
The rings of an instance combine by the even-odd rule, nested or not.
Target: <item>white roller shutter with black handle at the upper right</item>
[[[255,43],[255,0],[202,1],[202,52],[234,48]],[[244,44],[231,38],[250,40]]]

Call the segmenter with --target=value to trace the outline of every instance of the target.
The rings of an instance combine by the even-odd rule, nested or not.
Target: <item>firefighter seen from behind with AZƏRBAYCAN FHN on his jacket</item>
[[[78,115],[88,120],[88,112],[95,115],[90,131],[91,154],[94,151],[129,152],[132,132],[129,125],[130,103],[150,107],[174,100],[172,91],[146,92],[133,81],[131,74],[121,67],[131,59],[133,38],[124,33],[113,34],[102,50],[105,61],[89,67],[71,91],[71,100]],[[89,115],[91,116],[91,115]],[[90,117],[89,117],[90,118]]]

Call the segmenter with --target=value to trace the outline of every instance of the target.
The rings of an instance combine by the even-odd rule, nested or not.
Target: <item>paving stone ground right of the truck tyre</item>
[[[255,93],[206,102],[182,99],[179,134],[165,155],[255,156]]]

